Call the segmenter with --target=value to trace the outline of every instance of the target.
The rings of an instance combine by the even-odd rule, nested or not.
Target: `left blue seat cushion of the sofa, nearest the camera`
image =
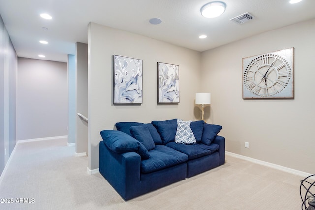
[[[175,142],[174,142],[175,143]],[[150,158],[141,160],[141,172],[150,173],[168,168],[188,160],[188,156],[165,145],[156,145],[149,151]]]

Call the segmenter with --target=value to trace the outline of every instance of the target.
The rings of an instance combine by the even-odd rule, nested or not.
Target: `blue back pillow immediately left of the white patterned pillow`
[[[153,126],[158,130],[161,136],[163,144],[175,141],[177,119],[165,120],[165,121],[152,121]]]

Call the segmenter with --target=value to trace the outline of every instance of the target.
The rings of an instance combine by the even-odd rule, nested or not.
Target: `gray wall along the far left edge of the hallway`
[[[16,144],[17,56],[0,16],[0,174]]]

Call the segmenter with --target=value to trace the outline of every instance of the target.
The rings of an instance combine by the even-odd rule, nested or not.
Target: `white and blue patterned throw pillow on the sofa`
[[[191,121],[183,121],[177,119],[177,130],[175,135],[175,142],[182,144],[194,144],[196,143],[196,138],[190,128]]]

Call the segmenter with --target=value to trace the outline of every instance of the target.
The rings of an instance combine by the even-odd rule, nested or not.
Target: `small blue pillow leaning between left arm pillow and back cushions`
[[[133,138],[141,142],[149,151],[155,148],[154,141],[147,125],[138,125],[130,127],[130,133]]]

